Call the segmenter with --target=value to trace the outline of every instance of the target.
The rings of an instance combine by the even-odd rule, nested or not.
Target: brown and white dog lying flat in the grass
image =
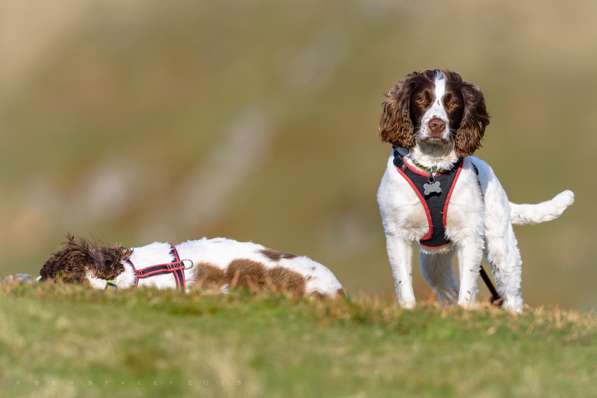
[[[41,280],[89,283],[94,288],[187,287],[229,291],[245,286],[297,295],[342,295],[326,267],[307,257],[232,239],[189,240],[180,245],[154,242],[140,248],[96,246],[67,235],[68,241],[45,262]]]

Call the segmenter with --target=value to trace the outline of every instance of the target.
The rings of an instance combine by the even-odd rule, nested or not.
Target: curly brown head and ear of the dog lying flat
[[[112,248],[98,247],[85,239],[79,239],[70,234],[66,235],[68,241],[58,246],[58,250],[45,262],[39,271],[42,280],[61,280],[67,283],[85,283],[85,276],[99,279],[112,279],[124,272],[122,261],[127,260],[133,249],[116,245]]]

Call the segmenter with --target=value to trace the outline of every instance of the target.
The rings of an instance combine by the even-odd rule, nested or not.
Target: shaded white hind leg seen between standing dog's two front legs
[[[421,250],[418,255],[423,277],[429,286],[438,292],[442,307],[456,303],[458,296],[458,282],[452,270],[453,255],[451,250],[441,253],[428,253]]]

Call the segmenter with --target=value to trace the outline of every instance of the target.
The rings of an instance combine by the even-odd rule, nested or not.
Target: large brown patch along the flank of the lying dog
[[[304,294],[305,277],[286,267],[267,268],[259,261],[238,258],[228,264],[226,270],[209,263],[196,265],[195,279],[199,286],[219,289],[229,285],[231,289],[239,286],[257,291],[270,288],[274,291]]]

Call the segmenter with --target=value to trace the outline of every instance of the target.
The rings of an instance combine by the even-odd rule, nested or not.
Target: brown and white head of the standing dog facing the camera
[[[379,135],[384,142],[412,148],[417,143],[453,144],[456,155],[481,147],[489,113],[483,93],[449,70],[413,72],[383,101]]]

